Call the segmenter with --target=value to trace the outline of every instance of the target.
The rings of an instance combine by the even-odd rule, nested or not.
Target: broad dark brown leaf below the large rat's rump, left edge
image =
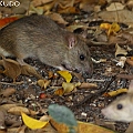
[[[17,61],[6,58],[2,59],[2,65],[4,68],[3,73],[16,82],[16,78],[21,74],[21,65]]]

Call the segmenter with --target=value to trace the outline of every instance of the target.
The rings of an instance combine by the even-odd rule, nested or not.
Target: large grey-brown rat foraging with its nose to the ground
[[[59,70],[92,75],[89,47],[79,34],[66,31],[45,16],[28,16],[0,30],[0,54],[23,59],[35,57]]]

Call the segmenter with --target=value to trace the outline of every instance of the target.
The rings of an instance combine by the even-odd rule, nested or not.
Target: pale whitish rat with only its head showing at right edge
[[[119,96],[102,110],[105,117],[113,121],[133,122],[133,80],[126,94]]]

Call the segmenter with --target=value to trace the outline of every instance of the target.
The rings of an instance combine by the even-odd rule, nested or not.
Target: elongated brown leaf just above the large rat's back
[[[66,21],[62,18],[62,16],[59,14],[59,13],[52,12],[52,13],[49,14],[49,17],[50,17],[52,20],[57,21],[58,23],[61,23],[61,24],[64,24],[64,25],[69,23],[69,22],[66,22]]]

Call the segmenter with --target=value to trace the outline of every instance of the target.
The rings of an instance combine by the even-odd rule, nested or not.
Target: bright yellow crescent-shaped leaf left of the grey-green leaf
[[[32,130],[42,129],[43,126],[48,124],[48,122],[42,122],[35,119],[32,119],[28,116],[27,114],[24,114],[23,112],[21,112],[21,115],[22,115],[22,120],[24,124]]]

